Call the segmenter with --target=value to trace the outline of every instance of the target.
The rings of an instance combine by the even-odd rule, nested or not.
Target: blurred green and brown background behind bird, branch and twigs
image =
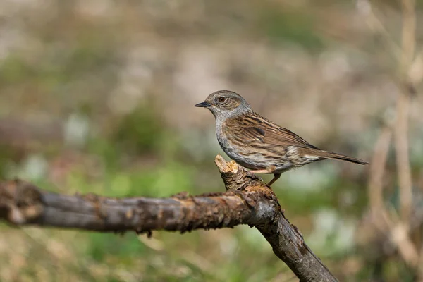
[[[423,264],[422,8],[408,76],[419,211],[409,239]],[[66,194],[222,191],[214,118],[193,105],[223,89],[317,147],[370,161],[403,94],[402,22],[400,1],[381,0],[0,1],[1,177]],[[395,217],[393,146],[387,154],[383,199]],[[272,188],[341,281],[417,281],[416,257],[369,212],[371,171],[324,161]],[[150,239],[0,229],[0,281],[295,281],[247,226]]]

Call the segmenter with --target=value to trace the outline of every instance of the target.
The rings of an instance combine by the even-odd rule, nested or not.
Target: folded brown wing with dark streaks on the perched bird
[[[292,131],[281,128],[276,123],[257,114],[249,113],[235,118],[229,118],[225,123],[226,133],[246,144],[260,142],[274,146],[296,145],[317,149],[317,147],[309,144]]]

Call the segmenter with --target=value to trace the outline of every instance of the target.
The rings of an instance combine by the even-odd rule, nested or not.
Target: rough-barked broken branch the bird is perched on
[[[216,166],[226,192],[168,198],[60,195],[31,183],[0,183],[0,219],[13,225],[91,231],[192,231],[238,224],[255,226],[300,281],[337,281],[283,215],[274,192],[257,176],[220,155]]]

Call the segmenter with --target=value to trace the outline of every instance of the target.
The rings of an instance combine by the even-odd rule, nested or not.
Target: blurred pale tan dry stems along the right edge
[[[375,145],[374,157],[370,168],[368,195],[375,226],[379,228],[382,234],[388,235],[389,240],[397,247],[404,262],[412,269],[415,269],[417,276],[420,276],[421,279],[423,277],[423,251],[419,252],[417,246],[410,238],[413,203],[408,123],[411,96],[415,92],[414,83],[417,82],[416,78],[410,78],[410,70],[415,57],[415,1],[402,0],[401,5],[403,8],[403,29],[400,56],[397,56],[398,51],[396,51],[396,44],[393,39],[380,20],[376,18],[372,8],[370,8],[372,20],[368,23],[373,23],[372,29],[379,31],[384,36],[388,45],[391,46],[390,49],[393,55],[398,59],[399,75],[397,75],[398,78],[396,80],[399,81],[400,93],[396,104],[395,124],[382,129]],[[375,27],[377,28],[375,29]],[[392,135],[400,190],[399,214],[394,207],[386,206],[383,192],[384,168]],[[418,224],[421,224],[421,219],[418,220]]]

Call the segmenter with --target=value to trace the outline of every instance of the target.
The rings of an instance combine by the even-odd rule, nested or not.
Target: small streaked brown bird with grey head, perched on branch
[[[321,150],[286,128],[253,111],[235,92],[221,90],[195,106],[207,108],[216,118],[217,140],[223,151],[253,173],[273,173],[272,185],[284,171],[323,159],[369,164],[361,159]]]

